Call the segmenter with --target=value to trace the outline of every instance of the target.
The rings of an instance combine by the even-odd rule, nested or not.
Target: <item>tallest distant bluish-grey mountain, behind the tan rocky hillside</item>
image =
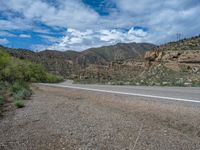
[[[155,48],[155,45],[148,43],[118,43],[112,46],[91,48],[83,51],[77,58],[78,64],[107,64],[111,61],[142,57],[143,54]]]

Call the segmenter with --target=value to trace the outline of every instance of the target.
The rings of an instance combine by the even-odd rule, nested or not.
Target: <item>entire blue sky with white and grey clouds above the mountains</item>
[[[82,51],[200,34],[200,0],[0,0],[0,45]]]

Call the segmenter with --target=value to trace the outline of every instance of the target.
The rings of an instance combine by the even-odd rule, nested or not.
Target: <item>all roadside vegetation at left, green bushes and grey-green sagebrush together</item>
[[[23,100],[31,96],[29,83],[55,83],[63,78],[47,73],[45,69],[27,60],[11,57],[0,49],[0,113],[8,102],[23,107]]]

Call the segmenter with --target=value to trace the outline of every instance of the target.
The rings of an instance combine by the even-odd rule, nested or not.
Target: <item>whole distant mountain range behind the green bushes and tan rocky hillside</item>
[[[120,43],[91,48],[82,52],[45,50],[36,53],[24,49],[4,48],[4,50],[13,57],[28,59],[42,64],[47,71],[69,77],[77,75],[77,72],[93,64],[108,65],[111,61],[119,59],[141,57],[146,51],[155,47],[155,45],[148,43]]]

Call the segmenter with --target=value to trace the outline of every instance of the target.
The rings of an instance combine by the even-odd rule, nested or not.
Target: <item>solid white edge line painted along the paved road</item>
[[[118,91],[110,91],[110,90],[91,89],[91,88],[74,87],[74,86],[67,86],[67,85],[43,84],[43,83],[40,83],[40,84],[52,86],[52,87],[63,87],[63,88],[103,92],[103,93],[113,93],[113,94],[131,95],[131,96],[138,96],[138,97],[148,97],[148,98],[165,99],[165,100],[173,100],[173,101],[200,103],[200,101],[192,100],[192,99],[182,99],[182,98],[173,98],[173,97],[156,96],[156,95],[146,95],[146,94],[127,93],[127,92],[118,92]]]

